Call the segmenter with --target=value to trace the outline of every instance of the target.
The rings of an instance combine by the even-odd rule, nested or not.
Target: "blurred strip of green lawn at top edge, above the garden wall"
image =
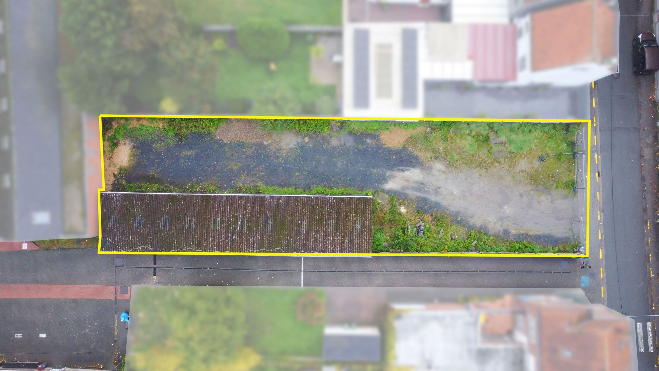
[[[191,24],[239,24],[252,16],[284,24],[341,24],[341,0],[176,0]]]

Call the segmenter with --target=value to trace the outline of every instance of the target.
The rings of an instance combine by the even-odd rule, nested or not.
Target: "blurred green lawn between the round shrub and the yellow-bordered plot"
[[[266,82],[276,81],[288,86],[302,105],[312,104],[321,96],[333,98],[333,86],[310,82],[309,63],[311,42],[303,36],[291,36],[287,53],[277,61],[277,71],[270,71],[268,63],[250,61],[237,48],[229,48],[219,56],[215,97],[219,101],[253,99]]]

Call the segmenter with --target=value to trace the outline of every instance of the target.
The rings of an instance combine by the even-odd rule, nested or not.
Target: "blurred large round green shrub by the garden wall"
[[[249,18],[236,30],[236,38],[250,59],[273,61],[291,42],[285,24],[269,18]]]

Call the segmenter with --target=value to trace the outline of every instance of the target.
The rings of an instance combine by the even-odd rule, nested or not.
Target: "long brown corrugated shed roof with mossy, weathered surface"
[[[372,252],[370,196],[101,192],[101,250]]]

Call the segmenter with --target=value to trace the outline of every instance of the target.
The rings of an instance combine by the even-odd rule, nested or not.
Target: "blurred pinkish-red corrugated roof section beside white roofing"
[[[512,81],[517,78],[517,36],[514,24],[470,24],[469,58],[474,80]]]

